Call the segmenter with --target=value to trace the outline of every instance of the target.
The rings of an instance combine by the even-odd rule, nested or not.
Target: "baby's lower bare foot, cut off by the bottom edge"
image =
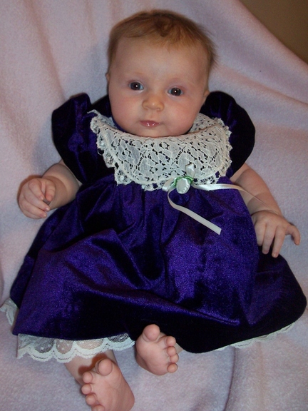
[[[81,391],[92,411],[129,411],[135,399],[120,368],[109,358],[96,363],[83,374]]]

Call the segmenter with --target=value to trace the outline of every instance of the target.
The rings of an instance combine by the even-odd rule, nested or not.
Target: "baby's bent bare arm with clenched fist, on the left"
[[[46,218],[48,211],[75,198],[80,183],[61,160],[41,178],[31,178],[21,187],[19,207],[30,218]]]

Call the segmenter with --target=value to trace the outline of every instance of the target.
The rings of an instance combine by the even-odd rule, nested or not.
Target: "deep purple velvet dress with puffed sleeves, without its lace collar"
[[[11,289],[14,334],[135,340],[155,323],[183,349],[206,352],[294,323],[306,298],[284,258],[260,253],[240,193],[170,193],[220,226],[217,235],[172,208],[165,191],[118,185],[98,153],[93,108],[111,116],[108,97],[91,106],[85,94],[53,113],[56,148],[83,185],[26,255]],[[219,181],[229,183],[252,151],[254,127],[224,93],[211,93],[202,112],[232,131],[232,164]]]

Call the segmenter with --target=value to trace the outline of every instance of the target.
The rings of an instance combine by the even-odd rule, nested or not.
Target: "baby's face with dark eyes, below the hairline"
[[[205,102],[207,58],[201,46],[167,47],[121,39],[107,74],[116,123],[136,136],[180,136]]]

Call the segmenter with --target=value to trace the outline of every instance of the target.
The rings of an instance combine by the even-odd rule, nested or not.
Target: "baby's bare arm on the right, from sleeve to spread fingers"
[[[231,180],[262,201],[242,194],[255,224],[257,243],[262,245],[262,253],[267,254],[272,246],[272,256],[277,257],[286,235],[292,235],[294,243],[299,245],[299,230],[284,218],[265,181],[250,166],[245,163]]]

